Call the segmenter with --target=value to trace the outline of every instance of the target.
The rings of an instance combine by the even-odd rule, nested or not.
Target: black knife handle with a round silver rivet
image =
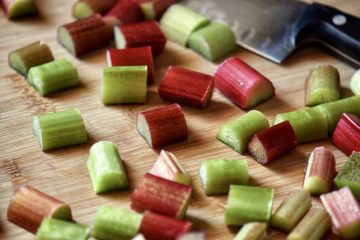
[[[309,6],[294,28],[296,46],[318,41],[360,65],[360,18],[314,3]]]

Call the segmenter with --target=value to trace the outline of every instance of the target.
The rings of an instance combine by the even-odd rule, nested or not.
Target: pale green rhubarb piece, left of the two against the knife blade
[[[207,18],[180,4],[172,4],[160,20],[165,36],[182,46],[186,46],[192,32],[209,23]]]

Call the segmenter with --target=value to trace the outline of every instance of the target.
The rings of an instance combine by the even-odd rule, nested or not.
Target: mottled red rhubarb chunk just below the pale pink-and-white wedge
[[[131,208],[140,213],[150,210],[182,219],[190,202],[191,191],[191,186],[147,173],[131,195]]]

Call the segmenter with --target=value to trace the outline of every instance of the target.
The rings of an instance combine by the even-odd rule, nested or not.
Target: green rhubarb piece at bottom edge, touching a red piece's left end
[[[142,220],[140,213],[101,206],[96,213],[92,235],[100,240],[130,240],[139,232]]]

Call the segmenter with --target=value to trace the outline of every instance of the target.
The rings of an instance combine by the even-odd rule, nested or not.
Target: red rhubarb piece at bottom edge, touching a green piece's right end
[[[174,240],[191,228],[191,222],[179,221],[154,212],[145,211],[140,230],[147,240]]]

